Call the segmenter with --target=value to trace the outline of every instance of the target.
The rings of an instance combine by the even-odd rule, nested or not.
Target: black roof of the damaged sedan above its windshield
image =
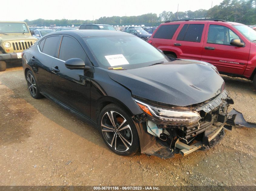
[[[129,33],[123,33],[123,32],[114,31],[114,30],[62,30],[62,31],[49,33],[45,35],[45,37],[54,35],[54,34],[66,34],[71,36],[79,35],[80,37],[134,36]]]

